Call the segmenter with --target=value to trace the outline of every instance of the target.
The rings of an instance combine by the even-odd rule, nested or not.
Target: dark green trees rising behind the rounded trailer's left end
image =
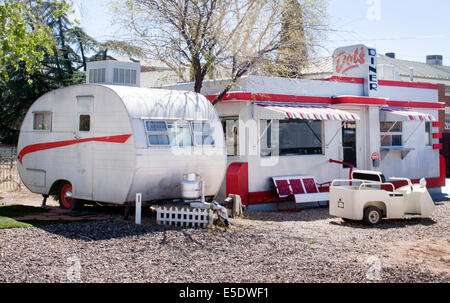
[[[9,7],[11,3],[22,5],[19,0],[8,2],[8,5],[0,0],[0,9]],[[46,47],[36,47],[34,58],[25,55],[25,59],[15,56],[11,43],[5,43],[7,46],[4,49],[10,49],[10,52],[3,54],[6,57],[0,64],[2,143],[17,142],[23,118],[31,104],[40,96],[60,87],[84,83],[84,71],[89,60],[86,54],[100,47],[81,28],[70,22],[67,0],[27,3],[31,3],[31,6],[24,8],[22,5],[22,11],[31,11],[39,16],[39,24],[49,35],[50,42]],[[24,20],[30,26],[29,19]],[[33,53],[33,50],[30,52]]]

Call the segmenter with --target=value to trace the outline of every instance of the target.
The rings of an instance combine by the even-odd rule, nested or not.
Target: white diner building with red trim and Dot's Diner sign
[[[354,45],[336,50],[331,78],[238,80],[215,105],[228,155],[220,196],[238,194],[249,210],[275,210],[289,196],[310,204],[308,194],[329,192],[353,168],[444,186],[437,86],[379,80],[377,68],[376,50]],[[206,82],[202,94],[214,100],[227,83]]]

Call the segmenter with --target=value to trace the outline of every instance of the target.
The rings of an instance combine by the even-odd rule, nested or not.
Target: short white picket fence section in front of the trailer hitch
[[[156,223],[159,225],[212,228],[213,211],[190,207],[159,206]]]

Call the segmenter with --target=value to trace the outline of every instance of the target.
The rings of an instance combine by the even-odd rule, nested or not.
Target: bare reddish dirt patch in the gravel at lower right
[[[450,274],[450,239],[403,241],[392,245],[387,262],[415,264],[435,273]]]

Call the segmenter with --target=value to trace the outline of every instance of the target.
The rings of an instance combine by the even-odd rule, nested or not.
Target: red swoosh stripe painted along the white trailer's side
[[[109,142],[109,143],[125,143],[128,141],[128,139],[132,135],[119,135],[119,136],[108,136],[108,137],[97,137],[97,138],[85,138],[85,139],[77,139],[77,140],[68,140],[68,141],[58,141],[58,142],[48,142],[48,143],[39,143],[39,144],[33,144],[28,145],[24,147],[19,155],[17,156],[17,159],[19,159],[20,164],[22,164],[23,157],[25,157],[27,154],[35,153],[42,150],[48,150],[53,148],[59,148],[69,145],[75,145],[85,142]]]

